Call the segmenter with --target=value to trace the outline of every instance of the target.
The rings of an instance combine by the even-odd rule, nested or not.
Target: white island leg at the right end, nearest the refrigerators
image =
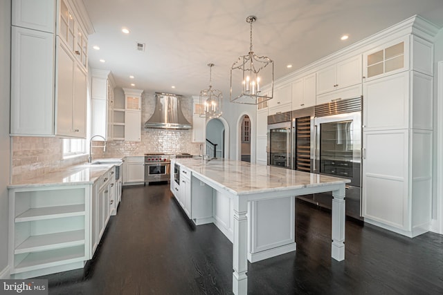
[[[345,184],[333,191],[332,196],[332,250],[335,260],[345,259]]]

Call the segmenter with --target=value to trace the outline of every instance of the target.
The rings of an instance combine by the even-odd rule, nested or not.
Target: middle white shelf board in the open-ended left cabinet
[[[14,254],[84,245],[84,230],[29,236],[15,248]]]

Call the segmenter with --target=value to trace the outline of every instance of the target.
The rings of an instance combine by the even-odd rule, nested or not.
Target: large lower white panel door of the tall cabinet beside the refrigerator
[[[408,130],[363,133],[363,217],[408,226]]]

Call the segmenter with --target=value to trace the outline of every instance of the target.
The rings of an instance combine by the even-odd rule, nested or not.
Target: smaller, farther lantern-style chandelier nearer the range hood
[[[200,91],[200,117],[220,117],[223,113],[223,94],[217,89],[213,89],[212,68],[214,64],[209,66],[209,88]]]

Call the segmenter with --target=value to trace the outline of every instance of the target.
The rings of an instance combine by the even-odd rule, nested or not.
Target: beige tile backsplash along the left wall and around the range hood
[[[116,88],[116,96],[124,97]],[[123,98],[124,99],[124,98]],[[145,153],[199,154],[199,143],[192,143],[192,130],[145,129],[145,122],[152,116],[155,106],[154,93],[143,94],[141,111],[141,142],[123,140],[107,142],[103,152],[102,142],[93,142],[93,158],[123,157]],[[192,122],[192,98],[182,97],[183,115]],[[49,173],[66,166],[87,162],[88,155],[63,158],[63,140],[58,137],[12,137],[12,180],[19,181],[36,173]]]

